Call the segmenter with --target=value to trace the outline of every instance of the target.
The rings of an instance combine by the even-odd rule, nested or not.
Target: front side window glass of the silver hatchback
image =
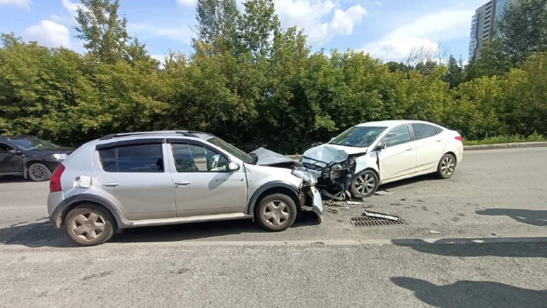
[[[226,171],[228,158],[207,147],[194,144],[172,144],[177,172]]]

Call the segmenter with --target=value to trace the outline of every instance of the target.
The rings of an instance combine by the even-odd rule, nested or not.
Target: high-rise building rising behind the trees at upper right
[[[492,41],[494,24],[501,18],[508,0],[491,0],[475,10],[471,18],[469,37],[469,61],[480,58],[480,49],[486,41]]]

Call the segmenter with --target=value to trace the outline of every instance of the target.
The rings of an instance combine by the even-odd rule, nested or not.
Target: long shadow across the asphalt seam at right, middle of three
[[[441,238],[434,243],[423,239],[392,239],[391,242],[418,252],[444,256],[547,258],[547,237]]]

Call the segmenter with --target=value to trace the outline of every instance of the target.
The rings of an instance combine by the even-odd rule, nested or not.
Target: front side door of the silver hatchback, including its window
[[[205,143],[171,139],[170,168],[177,216],[243,213],[245,168],[228,171],[228,156]]]

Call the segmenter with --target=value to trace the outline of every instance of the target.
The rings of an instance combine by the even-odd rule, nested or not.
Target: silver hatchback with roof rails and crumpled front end
[[[50,180],[51,223],[76,243],[104,243],[116,229],[252,218],[283,231],[321,196],[300,163],[258,149],[251,155],[211,134],[160,131],[90,141]]]

